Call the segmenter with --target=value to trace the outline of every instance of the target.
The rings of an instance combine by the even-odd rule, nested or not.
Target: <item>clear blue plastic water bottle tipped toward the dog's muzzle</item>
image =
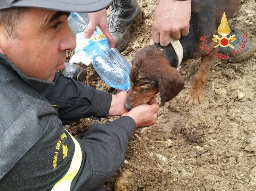
[[[68,18],[73,34],[76,34],[76,52],[83,53],[92,59],[92,65],[100,77],[111,87],[128,91],[131,87],[129,80],[129,63],[115,48],[110,47],[109,41],[100,30],[96,30],[88,40],[84,37],[87,26],[87,13],[71,12]]]

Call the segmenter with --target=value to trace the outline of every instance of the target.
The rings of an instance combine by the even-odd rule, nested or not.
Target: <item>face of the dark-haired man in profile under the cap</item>
[[[27,76],[52,81],[56,71],[64,69],[66,50],[76,46],[67,14],[31,8],[17,27],[15,39],[8,39],[0,27],[4,55]]]

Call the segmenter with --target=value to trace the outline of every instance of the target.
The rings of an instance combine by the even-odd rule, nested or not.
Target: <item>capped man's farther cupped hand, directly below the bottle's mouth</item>
[[[125,109],[127,96],[128,93],[126,93],[126,91],[112,94],[112,102],[108,112],[109,116],[121,116],[123,113],[128,112],[128,110]]]

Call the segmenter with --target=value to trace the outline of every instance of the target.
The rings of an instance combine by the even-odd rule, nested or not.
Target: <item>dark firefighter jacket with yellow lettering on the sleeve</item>
[[[50,190],[68,171],[74,152],[63,124],[107,117],[111,99],[60,73],[54,82],[29,78],[0,54],[0,190]],[[78,140],[83,162],[72,190],[95,189],[117,171],[134,130],[130,117],[92,125]]]

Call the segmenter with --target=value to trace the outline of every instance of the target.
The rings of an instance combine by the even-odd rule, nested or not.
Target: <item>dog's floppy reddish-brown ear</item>
[[[168,102],[181,92],[184,79],[175,67],[168,67],[158,76],[158,87],[161,102]]]

